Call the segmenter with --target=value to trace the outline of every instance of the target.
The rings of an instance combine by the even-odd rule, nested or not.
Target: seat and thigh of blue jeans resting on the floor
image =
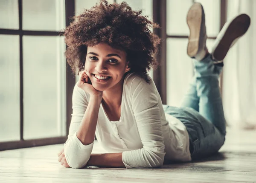
[[[189,134],[189,151],[192,160],[212,155],[224,144],[225,135],[191,107],[166,106],[165,113],[174,116],[185,125]]]

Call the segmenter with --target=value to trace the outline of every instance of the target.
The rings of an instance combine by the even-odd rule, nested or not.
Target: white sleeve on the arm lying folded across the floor
[[[142,149],[122,152],[126,168],[157,168],[165,156],[157,88],[144,79],[131,84],[131,106],[143,144]]]

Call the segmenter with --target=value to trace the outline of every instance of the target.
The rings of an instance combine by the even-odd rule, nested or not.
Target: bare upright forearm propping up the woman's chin
[[[82,144],[88,145],[94,141],[99,107],[102,96],[91,96],[88,107],[84,113],[79,129],[76,132],[77,138]]]

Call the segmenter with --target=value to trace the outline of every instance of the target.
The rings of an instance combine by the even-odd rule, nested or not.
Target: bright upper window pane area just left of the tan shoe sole
[[[192,6],[192,0],[167,0],[166,32],[168,35],[188,35],[186,15]]]

